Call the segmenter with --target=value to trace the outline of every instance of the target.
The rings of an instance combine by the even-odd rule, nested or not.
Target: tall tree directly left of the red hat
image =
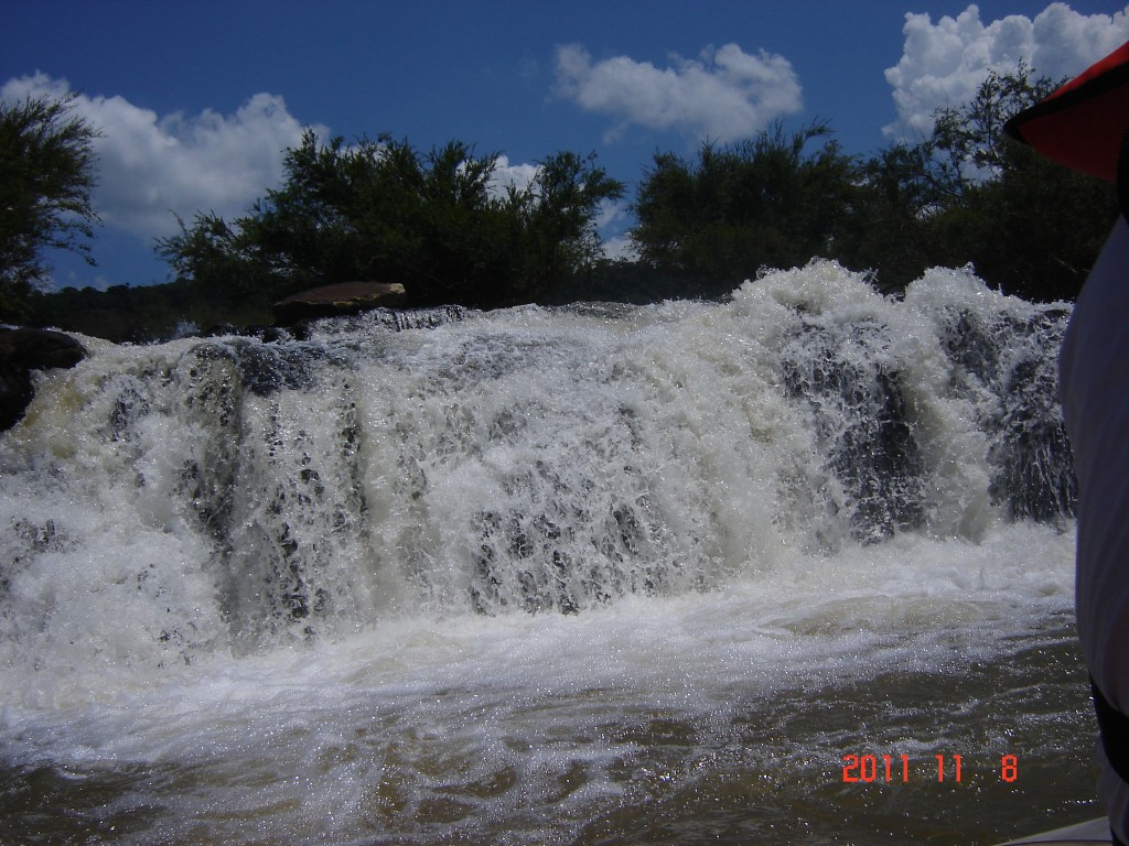
[[[933,265],[972,263],[991,287],[1035,300],[1077,296],[1117,218],[1111,185],[1004,133],[1057,83],[1021,63],[991,71],[969,103],[938,109],[933,133],[860,169],[850,236],[835,257],[896,289]]]

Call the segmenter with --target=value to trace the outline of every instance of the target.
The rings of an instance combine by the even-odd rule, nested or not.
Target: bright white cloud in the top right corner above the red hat
[[[1112,15],[1080,15],[1051,3],[1031,18],[1009,15],[984,24],[970,5],[955,18],[936,24],[928,15],[908,14],[902,58],[886,70],[901,120],[885,127],[928,133],[933,113],[966,103],[989,70],[1014,69],[1025,61],[1038,74],[1071,77],[1129,41],[1129,7]]]

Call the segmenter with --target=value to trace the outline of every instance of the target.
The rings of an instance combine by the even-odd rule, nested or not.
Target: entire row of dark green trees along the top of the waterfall
[[[631,203],[634,256],[616,261],[602,256],[596,221],[625,186],[595,155],[557,152],[527,185],[499,185],[498,155],[458,141],[421,152],[390,135],[323,143],[307,131],[285,151],[281,186],[246,214],[201,211],[157,243],[173,283],[100,298],[35,290],[50,271],[42,247],[88,254],[78,236],[96,222],[94,130],[68,104],[0,104],[0,194],[17,200],[0,209],[0,312],[67,328],[100,299],[148,315],[152,336],[175,319],[268,321],[271,302],[341,281],[402,282],[419,306],[639,301],[720,296],[813,257],[870,271],[886,293],[971,263],[1007,293],[1071,299],[1117,217],[1114,190],[1003,132],[1056,85],[1023,64],[991,72],[969,103],[935,113],[929,135],[869,157],[843,152],[826,123],[658,152]],[[43,178],[55,168],[56,183]],[[53,185],[65,186],[54,206],[42,202]]]

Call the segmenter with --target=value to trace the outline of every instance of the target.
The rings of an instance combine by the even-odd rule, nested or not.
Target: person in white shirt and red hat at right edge
[[[1059,353],[1078,478],[1075,610],[1101,742],[1097,792],[1129,843],[1129,43],[1007,124],[1048,158],[1118,184],[1121,215]]]

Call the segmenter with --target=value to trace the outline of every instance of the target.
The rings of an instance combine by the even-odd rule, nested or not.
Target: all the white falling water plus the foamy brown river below
[[[724,303],[90,341],[0,440],[0,840],[972,843],[1092,811],[1068,311],[815,262]],[[851,754],[1043,776],[879,795]]]

